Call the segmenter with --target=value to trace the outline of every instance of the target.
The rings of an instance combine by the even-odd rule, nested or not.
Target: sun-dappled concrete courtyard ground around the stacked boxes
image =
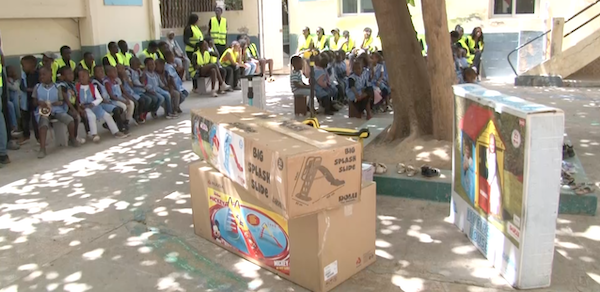
[[[490,87],[563,108],[600,181],[598,90]],[[287,78],[267,86],[271,109],[293,110],[288,88]],[[191,97],[184,111],[240,100]],[[363,122],[340,115],[324,121]],[[194,235],[187,115],[150,120],[128,140],[102,138],[44,160],[33,145],[10,152],[0,169],[0,291],[306,291]],[[448,214],[447,204],[379,197],[377,262],[335,291],[511,290]],[[552,287],[538,291],[600,291],[599,243],[598,217],[560,216]]]

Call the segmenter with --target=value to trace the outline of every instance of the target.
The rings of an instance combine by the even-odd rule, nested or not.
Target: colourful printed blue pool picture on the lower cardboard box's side
[[[208,194],[213,239],[289,275],[287,221],[212,188]]]

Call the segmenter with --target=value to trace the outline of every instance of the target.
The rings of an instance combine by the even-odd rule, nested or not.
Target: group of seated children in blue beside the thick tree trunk
[[[391,110],[390,87],[382,52],[361,51],[358,57],[346,58],[346,52],[323,51],[315,58],[315,97],[326,115],[333,115],[344,104],[356,109],[359,117],[366,113],[371,119],[373,111]],[[309,78],[305,62],[300,56],[291,60],[293,71],[290,85],[294,96],[310,96],[310,85],[302,81]]]

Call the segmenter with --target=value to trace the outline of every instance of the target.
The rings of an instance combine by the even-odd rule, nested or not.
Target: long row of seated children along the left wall
[[[89,52],[76,65],[70,48],[60,51],[61,57],[56,60],[52,53],[44,53],[39,64],[35,56],[24,56],[21,76],[16,67],[7,67],[7,121],[13,136],[22,133],[20,144],[30,140],[33,126],[40,145],[38,158],[46,156],[46,134],[53,123],[64,124],[69,145],[78,147],[87,137],[96,143],[100,141],[97,121],[114,137],[125,138],[130,125],[143,124],[148,114],[158,119],[160,107],[166,119],[182,113],[180,105],[189,94],[170,51],[163,58],[150,55],[140,60],[132,55],[127,66],[122,58],[114,66],[96,66]],[[84,124],[87,137],[78,137],[80,123]]]

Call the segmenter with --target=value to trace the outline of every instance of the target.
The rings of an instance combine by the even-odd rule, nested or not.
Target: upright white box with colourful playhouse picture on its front
[[[514,287],[550,285],[564,113],[454,86],[450,217]]]

